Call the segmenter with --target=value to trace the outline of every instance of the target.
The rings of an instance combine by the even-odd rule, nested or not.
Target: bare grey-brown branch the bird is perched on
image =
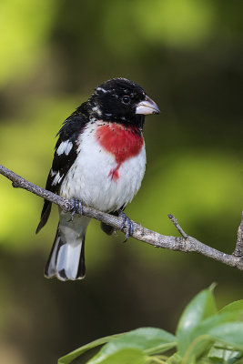
[[[13,187],[24,188],[39,197],[44,197],[48,201],[51,201],[57,206],[61,207],[65,212],[69,212],[72,208],[72,202],[70,200],[47,191],[42,187],[35,186],[25,178],[15,175],[14,172],[1,165],[0,174],[10,179],[13,182]],[[113,215],[107,214],[106,212],[98,211],[92,207],[84,206],[83,215],[86,217],[95,218],[96,220],[102,221],[107,225],[115,227],[116,229],[119,229],[122,226],[122,217],[115,217]],[[146,227],[142,227],[134,221],[134,231],[132,233],[132,237],[147,244],[153,245],[156,248],[166,248],[170,250],[183,251],[185,253],[196,252],[208,258],[212,258],[221,263],[227,264],[228,266],[243,270],[243,216],[241,224],[238,227],[237,245],[232,255],[225,254],[215,248],[208,247],[208,245],[201,243],[196,238],[189,237],[179,226],[176,217],[173,217],[170,214],[168,217],[173,222],[177,228],[177,231],[182,237],[171,237],[158,234],[157,232],[149,230]],[[124,233],[126,233],[126,231],[127,227],[124,229]]]

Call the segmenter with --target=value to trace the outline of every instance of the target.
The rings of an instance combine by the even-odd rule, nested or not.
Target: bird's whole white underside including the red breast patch
[[[63,184],[66,190],[69,187],[87,206],[104,211],[127,205],[145,173],[143,136],[132,128],[99,123],[87,126],[77,144],[76,163]]]

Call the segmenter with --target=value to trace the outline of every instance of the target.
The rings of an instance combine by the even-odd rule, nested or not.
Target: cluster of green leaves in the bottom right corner
[[[189,302],[175,335],[164,329],[135,329],[97,339],[58,364],[82,360],[94,348],[98,352],[87,364],[243,364],[243,300],[218,311],[211,286]]]

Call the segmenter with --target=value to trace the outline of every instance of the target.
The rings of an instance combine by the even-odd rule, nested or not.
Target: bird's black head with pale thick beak
[[[143,126],[145,115],[159,113],[145,90],[126,78],[112,78],[96,87],[88,103],[96,118],[137,126]]]

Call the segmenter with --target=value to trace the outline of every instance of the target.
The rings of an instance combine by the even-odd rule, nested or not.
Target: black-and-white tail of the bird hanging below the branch
[[[86,228],[77,234],[76,230],[60,224],[57,227],[56,238],[46,263],[45,276],[46,278],[56,277],[64,281],[85,278]]]

